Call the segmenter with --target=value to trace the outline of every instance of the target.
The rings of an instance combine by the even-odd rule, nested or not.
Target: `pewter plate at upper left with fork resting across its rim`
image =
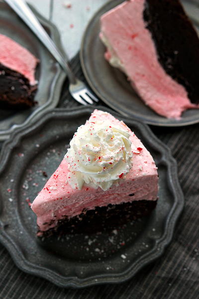
[[[42,17],[32,6],[30,8],[63,52],[57,28]],[[8,139],[16,128],[28,125],[35,118],[39,118],[43,111],[57,106],[65,73],[34,33],[3,2],[0,2],[0,33],[24,46],[40,60],[36,69],[38,90],[34,99],[38,104],[34,108],[19,112],[0,110],[0,141],[2,141]]]

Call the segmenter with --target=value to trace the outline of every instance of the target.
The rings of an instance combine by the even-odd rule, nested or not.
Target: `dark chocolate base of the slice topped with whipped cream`
[[[80,215],[70,219],[65,216],[58,221],[56,227],[44,232],[38,230],[37,236],[49,237],[54,234],[60,236],[112,230],[119,225],[124,225],[129,221],[149,215],[155,209],[157,200],[136,200],[116,205],[109,204],[103,207],[96,207],[95,210],[85,210]],[[54,221],[51,220],[48,224],[50,225]]]

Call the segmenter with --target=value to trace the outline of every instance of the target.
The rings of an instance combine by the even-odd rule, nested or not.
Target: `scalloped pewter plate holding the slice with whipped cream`
[[[155,159],[159,200],[148,217],[111,231],[38,241],[36,216],[29,204],[60,164],[74,132],[90,117],[92,107],[46,112],[38,122],[12,134],[1,150],[0,242],[18,268],[60,287],[128,280],[163,254],[184,206],[177,164],[170,150],[148,126],[104,107],[98,109],[123,120]]]

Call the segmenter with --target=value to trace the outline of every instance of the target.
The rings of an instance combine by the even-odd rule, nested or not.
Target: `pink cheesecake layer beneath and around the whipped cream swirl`
[[[134,133],[123,123],[116,120],[110,114],[101,116],[101,112],[95,110],[89,121],[98,118],[107,119],[114,125],[119,125],[130,133],[132,142],[133,167],[120,181],[119,186],[112,185],[103,191],[100,187],[95,189],[84,186],[81,190],[72,189],[66,183],[68,163],[62,160],[60,166],[45,184],[44,188],[33,201],[31,208],[37,215],[37,224],[41,231],[45,231],[57,225],[59,219],[65,216],[73,217],[82,213],[84,209],[95,209],[96,206],[106,206],[109,203],[119,204],[132,200],[156,200],[158,192],[157,167],[149,153]],[[141,148],[138,150],[137,148]],[[133,196],[129,194],[134,193]],[[52,224],[48,224],[51,220]]]

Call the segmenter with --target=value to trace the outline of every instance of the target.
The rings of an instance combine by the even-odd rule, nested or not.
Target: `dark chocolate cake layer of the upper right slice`
[[[145,0],[143,19],[160,64],[186,88],[190,101],[199,104],[199,37],[182,4],[179,0]]]

